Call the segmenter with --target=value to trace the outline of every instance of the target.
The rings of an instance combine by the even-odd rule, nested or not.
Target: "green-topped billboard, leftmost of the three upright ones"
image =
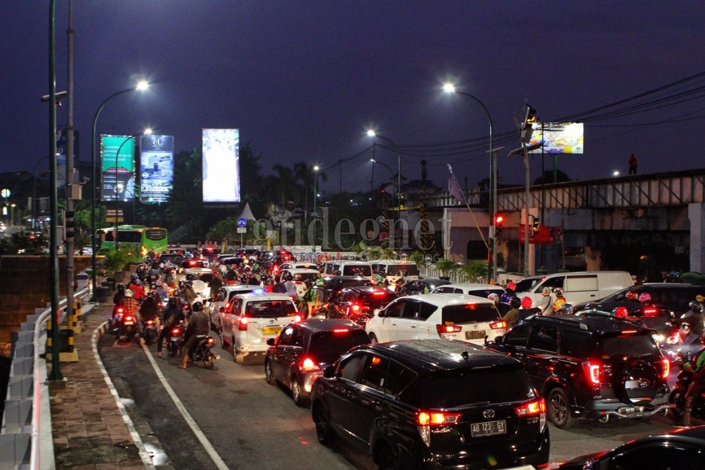
[[[131,201],[135,197],[135,137],[101,135],[101,199]]]

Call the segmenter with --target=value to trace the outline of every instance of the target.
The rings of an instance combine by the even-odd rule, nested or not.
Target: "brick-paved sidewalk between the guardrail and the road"
[[[75,335],[79,360],[62,362],[61,374],[66,381],[52,383],[49,388],[57,470],[154,469],[94,356],[94,333],[109,318],[111,307],[101,304],[83,315],[82,332]],[[100,330],[98,335],[102,333]],[[50,363],[47,369],[51,369]]]

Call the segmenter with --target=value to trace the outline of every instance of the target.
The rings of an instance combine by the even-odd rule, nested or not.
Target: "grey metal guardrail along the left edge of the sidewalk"
[[[87,288],[75,293],[82,302]],[[85,303],[85,302],[83,302]],[[59,302],[66,318],[66,298]],[[54,441],[47,385],[47,361],[40,357],[47,342],[47,319],[51,307],[35,309],[19,331],[13,331],[12,365],[5,412],[0,427],[0,470],[53,470]],[[61,323],[61,321],[59,322]]]

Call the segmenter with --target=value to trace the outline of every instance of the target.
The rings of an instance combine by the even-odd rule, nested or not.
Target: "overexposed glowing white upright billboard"
[[[203,130],[203,202],[240,202],[240,130]]]

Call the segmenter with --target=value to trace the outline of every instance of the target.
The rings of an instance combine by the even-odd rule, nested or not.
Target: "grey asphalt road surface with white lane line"
[[[219,342],[219,341],[218,341]],[[173,388],[213,450],[229,469],[374,469],[372,459],[338,441],[319,445],[308,409],[296,407],[288,392],[264,380],[264,368],[235,364],[231,350],[216,346],[221,359],[215,369],[202,364],[178,368],[179,359],[156,356],[159,371]],[[200,444],[171,397],[161,385],[142,347],[116,344],[104,335],[99,352],[122,398],[135,400],[175,469],[212,469],[213,459]],[[551,462],[609,450],[627,440],[668,431],[670,416],[645,421],[581,421],[568,431],[551,430]]]

